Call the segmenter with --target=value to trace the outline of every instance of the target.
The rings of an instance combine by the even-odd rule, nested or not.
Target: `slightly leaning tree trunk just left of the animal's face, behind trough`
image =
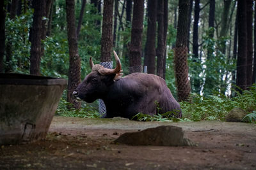
[[[78,54],[77,45],[75,0],[66,0],[66,13],[69,50],[67,101],[72,103],[74,108],[79,109],[81,107],[81,103],[76,102],[74,97],[72,97],[72,92],[81,82],[81,60]]]

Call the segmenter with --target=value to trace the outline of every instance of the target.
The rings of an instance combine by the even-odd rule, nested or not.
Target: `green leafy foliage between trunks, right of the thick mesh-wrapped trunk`
[[[222,52],[225,49],[225,43],[230,38],[214,39],[210,36],[213,31],[214,28],[210,28],[203,36],[203,50],[207,53],[207,59],[202,63],[205,68],[203,74],[205,96],[218,90],[224,94],[230,83],[228,80],[231,79],[231,72],[236,69],[236,60],[228,58]]]

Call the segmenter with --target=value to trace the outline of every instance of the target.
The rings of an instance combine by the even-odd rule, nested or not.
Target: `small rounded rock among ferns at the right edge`
[[[227,122],[243,122],[243,118],[247,115],[246,111],[241,108],[232,109],[225,117]]]

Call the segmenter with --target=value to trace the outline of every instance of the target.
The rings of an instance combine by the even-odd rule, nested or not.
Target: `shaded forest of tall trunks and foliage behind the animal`
[[[115,50],[124,74],[147,66],[179,101],[191,92],[232,97],[234,89],[255,83],[255,5],[252,0],[1,1],[0,71],[67,78],[65,95],[76,105],[68,93],[90,73],[90,56],[94,63],[110,62]]]

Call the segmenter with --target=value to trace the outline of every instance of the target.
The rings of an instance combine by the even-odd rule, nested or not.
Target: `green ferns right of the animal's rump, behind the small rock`
[[[193,93],[190,101],[182,102],[180,106],[183,117],[190,120],[224,120],[233,108],[256,110],[256,85],[250,87],[250,90],[244,90],[242,94],[237,92],[237,96],[232,99],[218,92],[209,96]]]

